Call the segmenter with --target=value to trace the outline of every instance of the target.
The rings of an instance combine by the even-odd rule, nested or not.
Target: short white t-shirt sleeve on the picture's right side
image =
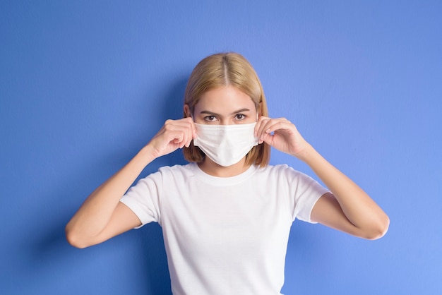
[[[311,211],[316,202],[321,198],[328,189],[321,186],[315,179],[306,174],[289,169],[290,195],[293,201],[292,219],[299,219],[305,222],[316,223],[311,221]]]

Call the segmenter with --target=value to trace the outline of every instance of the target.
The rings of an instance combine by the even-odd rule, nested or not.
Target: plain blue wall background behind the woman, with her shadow
[[[84,250],[64,227],[223,51],[391,219],[378,241],[295,222],[282,291],[438,293],[441,15],[441,1],[1,1],[0,293],[170,294],[157,224]]]

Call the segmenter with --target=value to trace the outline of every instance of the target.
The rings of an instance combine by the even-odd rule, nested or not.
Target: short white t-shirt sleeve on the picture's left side
[[[120,202],[129,207],[141,221],[141,227],[161,218],[162,174],[156,172],[140,179],[121,198]],[[137,227],[138,228],[138,227]]]

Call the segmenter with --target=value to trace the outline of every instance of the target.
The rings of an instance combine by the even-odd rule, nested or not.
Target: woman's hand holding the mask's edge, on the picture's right
[[[294,157],[302,158],[309,143],[304,140],[296,126],[285,118],[272,119],[261,116],[255,127],[258,143],[267,143],[273,148]]]

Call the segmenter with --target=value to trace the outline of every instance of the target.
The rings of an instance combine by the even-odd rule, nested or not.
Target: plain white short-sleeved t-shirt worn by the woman
[[[160,168],[121,202],[162,227],[174,295],[276,295],[292,222],[311,222],[326,192],[287,165],[216,177],[192,163]]]

